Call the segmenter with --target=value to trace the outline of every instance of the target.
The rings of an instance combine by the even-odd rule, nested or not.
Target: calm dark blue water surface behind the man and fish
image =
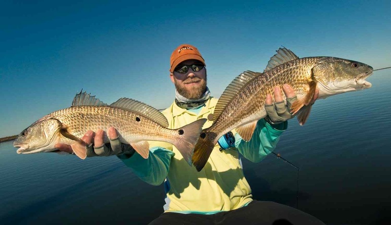
[[[244,160],[255,199],[298,206],[326,223],[389,224],[391,73],[368,81],[370,89],[317,101],[304,126],[289,121],[275,153],[299,173],[273,154]],[[12,142],[0,151],[2,224],[146,224],[163,212],[162,185],[143,183],[116,157],[19,155]]]

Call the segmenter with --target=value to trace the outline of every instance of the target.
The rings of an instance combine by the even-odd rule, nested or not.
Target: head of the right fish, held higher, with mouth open
[[[365,63],[335,57],[322,57],[312,68],[312,75],[319,89],[319,98],[322,99],[370,88],[372,84],[365,79],[372,74],[373,68]]]

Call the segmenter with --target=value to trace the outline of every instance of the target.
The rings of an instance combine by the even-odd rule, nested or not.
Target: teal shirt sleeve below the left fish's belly
[[[118,158],[141,180],[157,186],[166,179],[173,155],[174,152],[166,148],[153,147],[149,149],[149,156],[146,159],[138,153],[131,157],[119,155]]]

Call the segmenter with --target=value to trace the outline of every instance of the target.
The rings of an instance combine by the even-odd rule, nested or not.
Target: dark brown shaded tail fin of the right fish
[[[202,168],[204,168],[210,154],[212,153],[212,150],[215,145],[213,143],[212,137],[212,133],[205,131],[201,133],[200,138],[198,139],[192,157],[193,165],[196,167],[197,171],[201,171]]]

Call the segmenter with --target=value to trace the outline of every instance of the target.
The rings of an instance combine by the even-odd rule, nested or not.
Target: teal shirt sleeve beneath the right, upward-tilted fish
[[[245,158],[258,163],[276,148],[287,126],[287,121],[271,125],[265,119],[260,119],[250,141],[246,142],[239,134],[235,134],[235,146]]]

